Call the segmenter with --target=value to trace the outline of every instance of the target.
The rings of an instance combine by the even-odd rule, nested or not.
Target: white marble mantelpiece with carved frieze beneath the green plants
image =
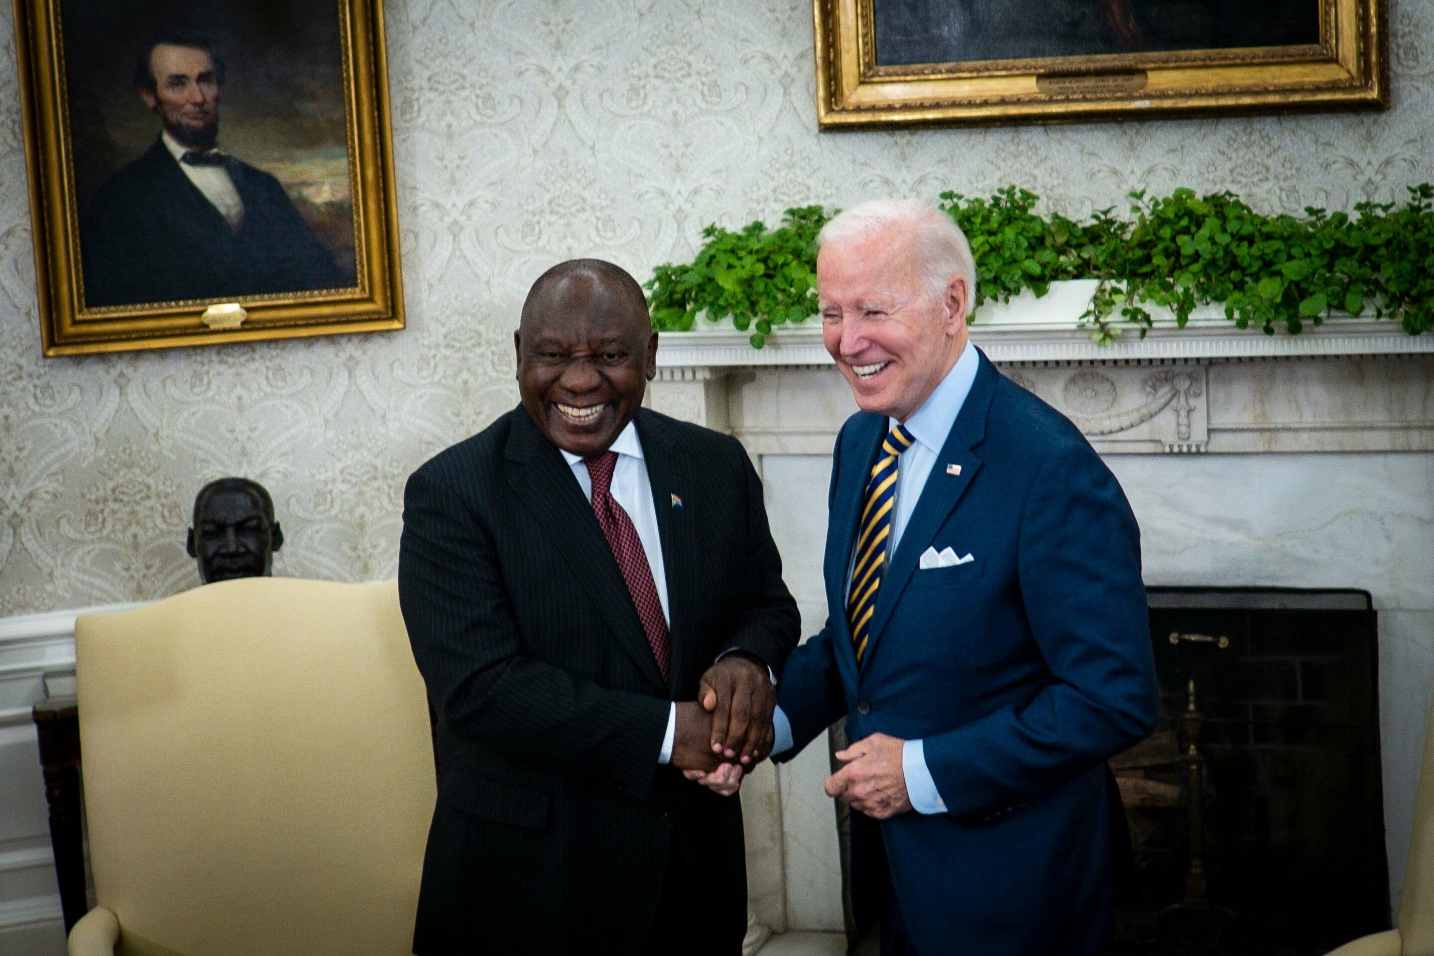
[[[1103,454],[1434,450],[1434,335],[1359,318],[1265,335],[1206,310],[1100,345],[1076,324],[1093,285],[982,308],[972,338]],[[829,454],[856,407],[815,321],[761,350],[734,330],[664,333],[650,403],[754,456]]]

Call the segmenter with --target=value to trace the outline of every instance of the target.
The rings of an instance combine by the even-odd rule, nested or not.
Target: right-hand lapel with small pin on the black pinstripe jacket
[[[687,494],[688,460],[675,430],[647,408],[637,413],[637,434],[642,443],[642,460],[652,486],[652,510],[657,512],[657,533],[663,545],[668,632],[673,641],[670,691],[675,694],[694,684],[697,672],[706,671],[711,664],[700,659],[700,648],[695,646],[693,613],[698,556],[693,519],[687,503],[683,507],[675,503],[677,499],[691,497]],[[700,503],[693,500],[691,507],[700,507]]]

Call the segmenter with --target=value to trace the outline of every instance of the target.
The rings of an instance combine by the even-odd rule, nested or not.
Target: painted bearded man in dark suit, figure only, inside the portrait
[[[217,148],[224,60],[161,30],[135,85],[159,139],[95,193],[82,235],[85,304],[275,295],[353,285],[272,175]]]

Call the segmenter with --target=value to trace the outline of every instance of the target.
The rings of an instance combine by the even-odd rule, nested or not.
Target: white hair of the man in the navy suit
[[[951,279],[967,281],[967,318],[977,307],[977,264],[971,244],[951,216],[916,199],[870,199],[839,212],[816,236],[817,248],[847,239],[868,239],[893,226],[911,231],[921,258],[926,292],[939,298]]]

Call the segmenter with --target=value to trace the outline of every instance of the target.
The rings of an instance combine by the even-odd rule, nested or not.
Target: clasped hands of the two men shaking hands
[[[730,797],[771,751],[776,688],[764,664],[740,651],[707,668],[697,699],[677,705],[673,765]]]

